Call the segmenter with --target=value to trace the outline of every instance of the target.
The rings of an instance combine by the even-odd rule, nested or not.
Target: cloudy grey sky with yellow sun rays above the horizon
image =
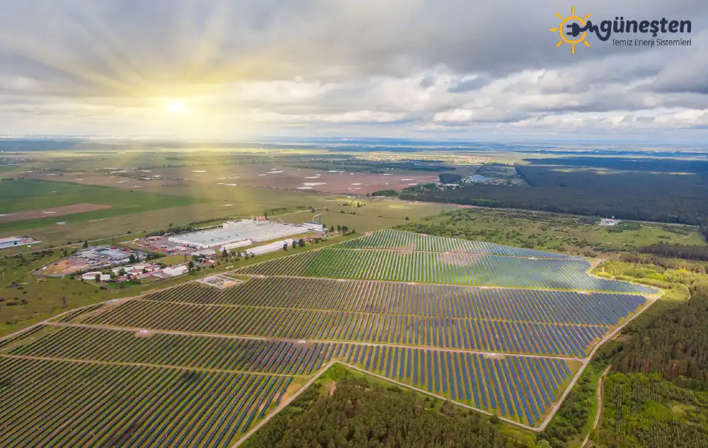
[[[690,46],[559,42],[561,17],[690,20]],[[704,0],[23,0],[0,134],[708,137]],[[615,35],[613,38],[651,38]]]

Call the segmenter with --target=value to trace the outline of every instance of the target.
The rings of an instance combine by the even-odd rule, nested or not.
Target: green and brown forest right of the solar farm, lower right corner
[[[613,345],[595,442],[618,448],[707,446],[708,264],[648,254],[620,259],[605,270],[683,285],[690,299],[658,301]]]

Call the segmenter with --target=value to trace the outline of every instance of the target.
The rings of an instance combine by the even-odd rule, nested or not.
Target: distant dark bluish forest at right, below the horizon
[[[700,225],[708,234],[708,163],[622,158],[529,159],[529,187],[465,185],[401,192],[401,199]],[[545,163],[545,164],[544,164]],[[623,171],[631,168],[634,171]],[[674,171],[677,170],[677,171]],[[481,202],[485,203],[482,204]]]

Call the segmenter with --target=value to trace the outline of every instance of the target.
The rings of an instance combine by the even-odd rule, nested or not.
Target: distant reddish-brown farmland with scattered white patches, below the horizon
[[[346,156],[345,156],[346,157]],[[224,163],[224,159],[232,159]],[[62,178],[84,185],[117,188],[148,188],[178,183],[217,185],[225,188],[277,188],[280,190],[319,191],[366,195],[378,190],[402,190],[411,185],[433,183],[439,172],[455,172],[462,176],[476,171],[476,166],[448,166],[436,163],[433,169],[416,169],[416,163],[383,163],[369,161],[307,163],[307,156],[245,156],[214,154],[211,160],[173,155],[159,157],[111,158],[101,163],[65,161],[31,163],[37,168],[17,173],[25,178]],[[119,166],[126,168],[118,168]],[[67,171],[67,172],[62,172]]]

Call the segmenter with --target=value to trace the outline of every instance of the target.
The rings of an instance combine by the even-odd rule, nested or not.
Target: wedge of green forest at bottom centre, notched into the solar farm
[[[333,369],[344,371],[344,367]],[[326,393],[324,389],[329,389]],[[331,394],[331,395],[330,395]],[[315,383],[242,445],[245,448],[513,448],[489,418],[346,374],[336,387]]]

